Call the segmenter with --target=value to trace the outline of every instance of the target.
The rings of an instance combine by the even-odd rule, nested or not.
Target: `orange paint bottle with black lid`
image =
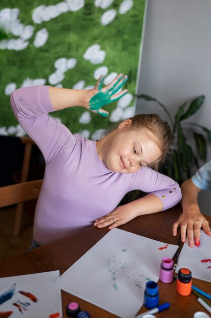
[[[191,293],[192,279],[191,271],[188,268],[181,268],[177,277],[177,292],[182,296]]]

